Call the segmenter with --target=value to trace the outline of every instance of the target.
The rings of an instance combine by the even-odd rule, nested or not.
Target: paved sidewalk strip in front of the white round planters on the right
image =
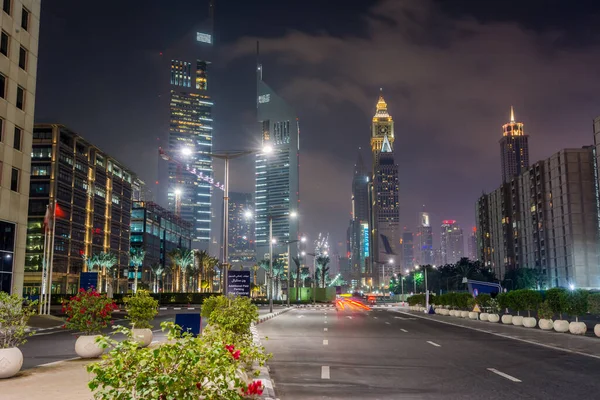
[[[408,311],[407,308],[399,308],[393,311],[437,321],[439,323],[460,326],[496,336],[532,343],[538,346],[550,347],[560,351],[566,351],[569,353],[576,353],[600,359],[600,338],[597,337],[577,336],[570,333],[543,331],[538,328],[525,328],[523,326],[505,325],[501,322],[492,323],[446,315],[424,314],[422,312]],[[588,325],[588,329],[589,328],[590,327]]]

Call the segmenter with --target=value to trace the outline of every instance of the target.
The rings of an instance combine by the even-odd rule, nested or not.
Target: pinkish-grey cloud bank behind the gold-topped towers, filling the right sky
[[[500,181],[498,140],[511,105],[531,135],[532,162],[593,140],[589,121],[600,114],[598,43],[568,47],[561,40],[565,32],[450,17],[431,0],[380,1],[364,24],[364,33],[347,37],[290,31],[243,38],[228,53],[232,59],[249,55],[260,40],[261,54],[286,76],[277,90],[308,126],[307,157],[315,161],[317,155],[327,159],[368,147],[370,117],[383,87],[396,121],[403,218],[409,224],[422,203],[435,204],[440,216],[473,222],[477,195]],[[357,109],[363,113],[361,131],[359,117],[350,115]],[[332,119],[337,129],[321,131],[331,128]],[[349,131],[357,133],[349,138]],[[347,223],[354,158],[330,158],[327,165],[344,178],[330,182],[326,204],[304,204],[321,214],[337,213],[338,236]],[[306,182],[320,182],[320,171],[314,173],[302,175],[304,190],[311,187]],[[455,193],[444,203],[436,187]]]

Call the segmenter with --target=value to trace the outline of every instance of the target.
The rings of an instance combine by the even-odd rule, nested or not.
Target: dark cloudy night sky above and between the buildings
[[[154,188],[168,132],[160,52],[206,13],[201,0],[43,1],[36,122],[69,126]],[[600,3],[583,0],[217,0],[214,148],[256,143],[260,40],[264,80],[300,118],[301,231],[343,242],[382,87],[402,224],[414,229],[425,204],[437,246],[442,219],[468,231],[477,197],[500,184],[511,105],[532,163],[593,143],[599,27]],[[231,190],[253,191],[253,174],[252,159],[232,164]]]

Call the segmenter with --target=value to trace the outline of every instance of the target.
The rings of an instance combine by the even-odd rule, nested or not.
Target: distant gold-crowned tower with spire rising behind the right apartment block
[[[515,112],[510,107],[510,122],[502,125],[500,159],[502,182],[508,182],[529,168],[529,136],[523,131],[523,123],[515,122]]]

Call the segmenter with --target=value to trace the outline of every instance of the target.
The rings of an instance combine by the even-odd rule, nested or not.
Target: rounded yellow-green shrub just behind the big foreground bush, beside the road
[[[258,307],[248,297],[216,296],[205,300],[202,316],[224,331],[237,334],[250,332],[250,325],[258,320]]]

